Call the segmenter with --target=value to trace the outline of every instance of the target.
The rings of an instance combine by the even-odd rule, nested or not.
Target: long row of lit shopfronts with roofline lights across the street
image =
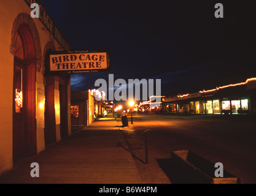
[[[192,94],[166,96],[166,113],[238,115],[256,113],[256,78]],[[175,110],[176,109],[176,110]]]

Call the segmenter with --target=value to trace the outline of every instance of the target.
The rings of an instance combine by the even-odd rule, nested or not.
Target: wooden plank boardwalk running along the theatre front
[[[117,121],[94,122],[1,176],[0,183],[142,183],[133,157],[126,149]],[[32,162],[39,164],[39,178],[30,175]]]

